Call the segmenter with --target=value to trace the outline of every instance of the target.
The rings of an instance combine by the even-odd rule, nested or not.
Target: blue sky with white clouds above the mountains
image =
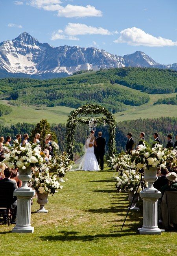
[[[52,46],[177,62],[176,0],[0,0],[0,42],[28,32]]]

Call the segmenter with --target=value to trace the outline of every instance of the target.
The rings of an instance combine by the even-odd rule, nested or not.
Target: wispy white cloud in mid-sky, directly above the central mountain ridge
[[[111,32],[105,28],[101,27],[92,27],[87,26],[86,24],[82,23],[68,23],[65,28],[65,33],[67,35],[93,35],[93,34],[100,34],[100,35],[111,35]]]

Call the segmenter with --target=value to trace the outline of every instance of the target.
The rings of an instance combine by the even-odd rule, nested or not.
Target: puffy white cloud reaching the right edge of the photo
[[[128,45],[144,45],[144,46],[177,46],[177,42],[163,37],[154,37],[140,28],[127,28],[120,32],[120,37],[114,43],[127,43]]]

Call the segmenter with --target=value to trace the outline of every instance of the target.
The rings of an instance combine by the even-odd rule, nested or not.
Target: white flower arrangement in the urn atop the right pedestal
[[[131,163],[136,165],[137,169],[148,169],[150,167],[166,167],[177,164],[177,151],[169,148],[162,148],[162,145],[156,144],[153,148],[139,145],[137,150],[132,151]]]

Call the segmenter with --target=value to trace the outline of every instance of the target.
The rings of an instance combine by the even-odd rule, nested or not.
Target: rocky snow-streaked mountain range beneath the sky
[[[51,78],[72,75],[79,70],[116,67],[177,70],[177,63],[162,65],[140,51],[122,57],[94,47],[53,47],[40,43],[27,32],[0,43],[0,78]]]

